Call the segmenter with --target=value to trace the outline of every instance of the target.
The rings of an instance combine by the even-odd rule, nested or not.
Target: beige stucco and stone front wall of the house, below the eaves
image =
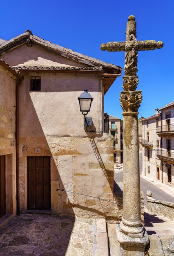
[[[31,92],[29,76],[41,76],[41,91]],[[20,211],[27,211],[27,156],[51,157],[51,211],[118,218],[113,204],[113,140],[105,133],[87,133],[78,96],[88,88],[94,100],[88,116],[103,130],[100,75],[25,74],[20,86]],[[40,154],[35,154],[40,148]],[[100,197],[56,192],[66,189]],[[114,201],[115,202],[115,201]]]

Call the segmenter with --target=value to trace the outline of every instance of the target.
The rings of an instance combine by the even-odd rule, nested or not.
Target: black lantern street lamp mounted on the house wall
[[[92,126],[92,117],[86,117],[86,115],[91,109],[91,103],[93,101],[93,98],[91,97],[91,94],[88,92],[88,90],[85,89],[84,92],[78,97],[78,101],[80,105],[80,111],[85,117],[84,129],[86,131],[87,126]]]

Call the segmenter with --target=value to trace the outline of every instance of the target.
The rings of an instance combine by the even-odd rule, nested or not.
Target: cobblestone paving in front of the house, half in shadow
[[[105,219],[21,214],[0,229],[0,256],[107,256]]]

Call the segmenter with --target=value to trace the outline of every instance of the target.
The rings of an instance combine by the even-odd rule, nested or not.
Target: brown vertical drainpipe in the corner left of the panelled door
[[[19,86],[22,81],[16,84],[16,214],[20,215],[19,198]]]

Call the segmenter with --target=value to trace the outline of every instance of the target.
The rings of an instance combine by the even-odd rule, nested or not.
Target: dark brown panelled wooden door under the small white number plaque
[[[50,209],[50,157],[28,157],[28,210]]]

